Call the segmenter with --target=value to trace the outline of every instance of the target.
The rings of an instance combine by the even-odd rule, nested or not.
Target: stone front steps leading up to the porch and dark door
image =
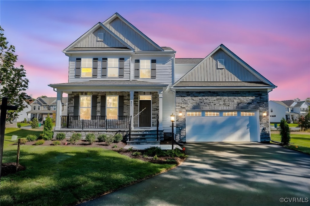
[[[127,145],[159,145],[160,141],[164,140],[163,130],[156,129],[134,129],[131,131],[131,141],[127,140]]]

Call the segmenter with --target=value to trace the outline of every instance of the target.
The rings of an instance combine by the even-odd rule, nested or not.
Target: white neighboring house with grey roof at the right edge
[[[280,123],[284,118],[287,122],[296,122],[299,115],[306,114],[309,102],[301,101],[294,102],[294,100],[285,101],[269,101],[269,115],[271,123]]]

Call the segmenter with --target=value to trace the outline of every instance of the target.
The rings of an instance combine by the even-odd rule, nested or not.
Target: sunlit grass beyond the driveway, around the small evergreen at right
[[[310,154],[310,135],[309,134],[291,134],[290,145],[285,146],[289,149],[294,149],[306,154]],[[271,140],[281,142],[280,134],[271,134]],[[296,148],[296,146],[298,148]]]

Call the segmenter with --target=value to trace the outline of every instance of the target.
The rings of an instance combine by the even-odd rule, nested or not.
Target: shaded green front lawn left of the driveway
[[[39,133],[8,128],[5,139]],[[16,150],[16,144],[5,141],[3,163],[15,162]],[[26,170],[1,178],[1,206],[74,205],[175,166],[101,148],[42,145],[21,145],[19,162]]]

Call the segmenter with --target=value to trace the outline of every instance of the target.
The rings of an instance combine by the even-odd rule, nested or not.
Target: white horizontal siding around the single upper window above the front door
[[[143,60],[143,59],[156,59],[156,78],[155,79],[136,79],[134,74],[135,68],[135,59]],[[131,79],[144,81],[144,82],[156,82],[162,84],[171,84],[172,83],[172,57],[160,57],[160,56],[152,56],[152,57],[134,57],[131,59]]]

